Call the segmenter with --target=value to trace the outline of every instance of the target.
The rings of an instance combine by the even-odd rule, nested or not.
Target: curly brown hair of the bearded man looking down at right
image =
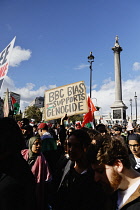
[[[128,149],[122,138],[104,136],[88,151],[90,162],[113,166],[117,159],[121,160],[126,168],[130,168]]]

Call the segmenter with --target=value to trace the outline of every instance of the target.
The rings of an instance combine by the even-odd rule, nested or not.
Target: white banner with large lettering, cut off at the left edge
[[[4,77],[8,72],[8,65],[10,61],[10,56],[15,43],[16,37],[10,42],[10,44],[0,53],[0,88],[2,86]]]

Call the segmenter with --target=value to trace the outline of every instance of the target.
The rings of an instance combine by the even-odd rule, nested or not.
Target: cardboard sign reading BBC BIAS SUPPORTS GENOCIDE
[[[45,91],[45,120],[88,112],[83,81]]]

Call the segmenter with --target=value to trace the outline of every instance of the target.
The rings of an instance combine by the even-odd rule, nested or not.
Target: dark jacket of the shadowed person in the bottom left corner
[[[35,181],[21,154],[0,162],[0,210],[35,210]]]

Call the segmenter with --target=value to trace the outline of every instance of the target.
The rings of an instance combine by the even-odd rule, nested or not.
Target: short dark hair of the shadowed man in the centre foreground
[[[70,136],[75,136],[84,147],[88,147],[91,144],[91,138],[88,133],[81,129],[73,131]]]

